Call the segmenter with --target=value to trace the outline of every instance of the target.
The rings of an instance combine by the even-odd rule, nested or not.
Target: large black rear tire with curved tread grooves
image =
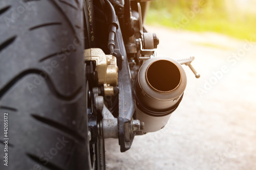
[[[82,2],[0,2],[0,169],[89,169]]]

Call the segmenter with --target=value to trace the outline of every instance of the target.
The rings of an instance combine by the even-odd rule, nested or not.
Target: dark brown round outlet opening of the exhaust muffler
[[[179,67],[173,62],[158,60],[147,67],[146,81],[157,91],[172,91],[181,82],[181,72]]]

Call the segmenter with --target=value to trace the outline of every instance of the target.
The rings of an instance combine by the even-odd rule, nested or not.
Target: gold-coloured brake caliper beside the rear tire
[[[103,85],[105,95],[114,95],[113,86],[118,85],[116,57],[105,55],[100,48],[89,48],[84,50],[84,60],[95,62],[98,85]]]

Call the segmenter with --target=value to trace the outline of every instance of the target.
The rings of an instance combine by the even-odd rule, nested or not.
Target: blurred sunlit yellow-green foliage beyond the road
[[[157,0],[146,24],[256,41],[256,0]]]

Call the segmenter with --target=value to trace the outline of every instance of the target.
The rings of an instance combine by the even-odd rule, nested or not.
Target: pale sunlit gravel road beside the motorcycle
[[[136,136],[125,153],[117,139],[106,139],[106,168],[256,169],[256,43],[146,28],[160,39],[159,56],[196,56],[201,78],[184,66],[183,101],[161,131]]]

